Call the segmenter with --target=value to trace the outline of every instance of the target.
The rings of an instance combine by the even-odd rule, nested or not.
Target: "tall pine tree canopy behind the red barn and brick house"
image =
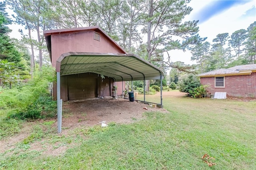
[[[256,62],[256,22],[248,26],[247,30],[217,34],[210,42],[198,34],[198,20],[185,20],[192,11],[189,2],[190,0],[6,0],[0,2],[0,59],[16,65],[23,58],[28,61],[27,57],[22,57],[22,48],[16,48],[20,43],[30,49],[29,64],[32,72],[37,64],[39,67],[49,64],[44,30],[97,25],[128,53],[139,55],[165,72],[171,67],[186,73],[202,73]],[[12,24],[12,20],[5,11],[6,4],[15,13],[14,23],[24,26],[20,30],[22,40],[18,43],[8,36],[11,32],[8,25]],[[36,33],[35,37],[32,36],[33,32]],[[190,51],[191,60],[197,64],[172,62],[169,52],[174,49]],[[149,84],[147,81],[147,89]]]

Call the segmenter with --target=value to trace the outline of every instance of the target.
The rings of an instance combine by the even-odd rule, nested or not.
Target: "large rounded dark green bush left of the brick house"
[[[178,81],[178,89],[180,92],[189,93],[190,90],[193,90],[196,87],[200,86],[200,81],[198,77],[190,73],[180,77]]]

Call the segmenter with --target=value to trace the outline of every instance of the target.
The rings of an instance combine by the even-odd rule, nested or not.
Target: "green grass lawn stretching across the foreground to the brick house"
[[[170,113],[145,113],[130,124],[112,123],[44,138],[74,144],[63,155],[44,156],[21,143],[0,154],[3,169],[256,169],[256,101],[192,99],[164,93]],[[137,99],[142,99],[137,95]],[[159,93],[146,99],[158,103]],[[45,125],[46,126],[46,125]],[[34,134],[36,135],[36,134]],[[86,138],[81,138],[85,135]],[[80,139],[80,140],[78,140]],[[1,141],[0,141],[1,142]],[[65,142],[63,142],[65,144]],[[208,167],[201,157],[214,157]]]

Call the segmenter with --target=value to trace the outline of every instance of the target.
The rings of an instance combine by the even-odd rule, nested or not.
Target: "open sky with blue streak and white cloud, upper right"
[[[218,34],[228,33],[229,36],[236,30],[247,29],[256,21],[256,0],[191,0],[188,4],[193,8],[190,15],[184,20],[199,20],[201,37],[212,43]],[[172,61],[182,61],[186,64],[192,54],[189,51],[171,51]]]

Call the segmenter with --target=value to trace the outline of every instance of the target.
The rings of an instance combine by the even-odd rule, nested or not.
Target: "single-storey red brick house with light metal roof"
[[[202,85],[209,85],[208,94],[226,92],[230,97],[256,98],[256,64],[216,69],[197,76]]]

